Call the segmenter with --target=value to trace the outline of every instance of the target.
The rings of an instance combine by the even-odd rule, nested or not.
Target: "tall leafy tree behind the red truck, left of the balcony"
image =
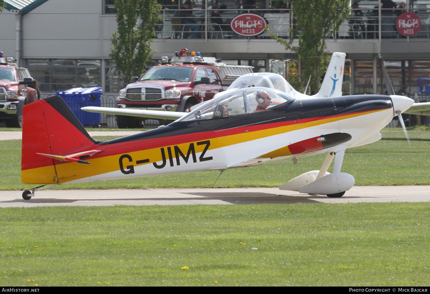
[[[115,0],[117,31],[114,31],[109,56],[130,79],[139,76],[151,61],[154,28],[161,20],[161,5],[156,0]]]

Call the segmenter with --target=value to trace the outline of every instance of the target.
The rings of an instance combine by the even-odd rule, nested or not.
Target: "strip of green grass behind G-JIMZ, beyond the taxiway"
[[[347,149],[342,172],[353,175],[356,185],[429,185],[430,132],[411,131],[409,137],[412,148],[403,132],[393,131],[382,132],[382,139],[378,142]],[[99,141],[112,138],[117,137],[95,137]],[[21,141],[0,141],[0,153],[0,190],[28,189],[28,185],[21,182]],[[318,170],[324,158],[324,155],[310,156],[299,159],[296,165],[290,160],[252,168],[234,168],[226,170],[218,181],[219,172],[209,171],[65,184],[54,188],[277,187],[304,172]]]

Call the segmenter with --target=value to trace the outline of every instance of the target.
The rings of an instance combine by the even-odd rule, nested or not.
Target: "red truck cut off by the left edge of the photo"
[[[0,52],[0,122],[8,128],[22,128],[22,107],[40,96],[28,69],[17,67],[15,61]]]

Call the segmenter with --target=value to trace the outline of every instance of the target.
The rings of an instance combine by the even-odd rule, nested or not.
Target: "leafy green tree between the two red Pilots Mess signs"
[[[276,37],[266,25],[270,37],[292,50],[301,59],[302,75],[289,76],[289,82],[296,89],[303,89],[309,76],[310,89],[317,92],[320,87],[320,68],[326,68],[329,55],[326,40],[334,36],[339,26],[350,14],[350,0],[289,0],[294,16],[290,37],[285,40]],[[293,41],[298,38],[298,46]],[[295,64],[293,64],[293,67]]]

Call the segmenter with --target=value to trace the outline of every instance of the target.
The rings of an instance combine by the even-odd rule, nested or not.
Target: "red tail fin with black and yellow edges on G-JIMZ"
[[[59,165],[69,158],[64,156],[96,146],[60,96],[25,105],[23,121],[21,180],[25,184],[57,184]]]

